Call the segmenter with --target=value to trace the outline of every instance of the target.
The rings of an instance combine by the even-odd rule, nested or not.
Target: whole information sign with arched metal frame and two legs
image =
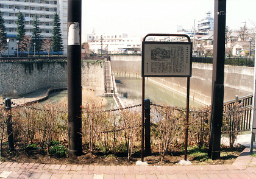
[[[186,37],[188,42],[146,41],[149,36]],[[150,33],[142,42],[142,116],[141,161],[144,159],[144,98],[145,77],[187,77],[187,114],[185,122],[185,161],[188,146],[188,115],[190,100],[190,77],[192,67],[192,43],[188,35]]]

